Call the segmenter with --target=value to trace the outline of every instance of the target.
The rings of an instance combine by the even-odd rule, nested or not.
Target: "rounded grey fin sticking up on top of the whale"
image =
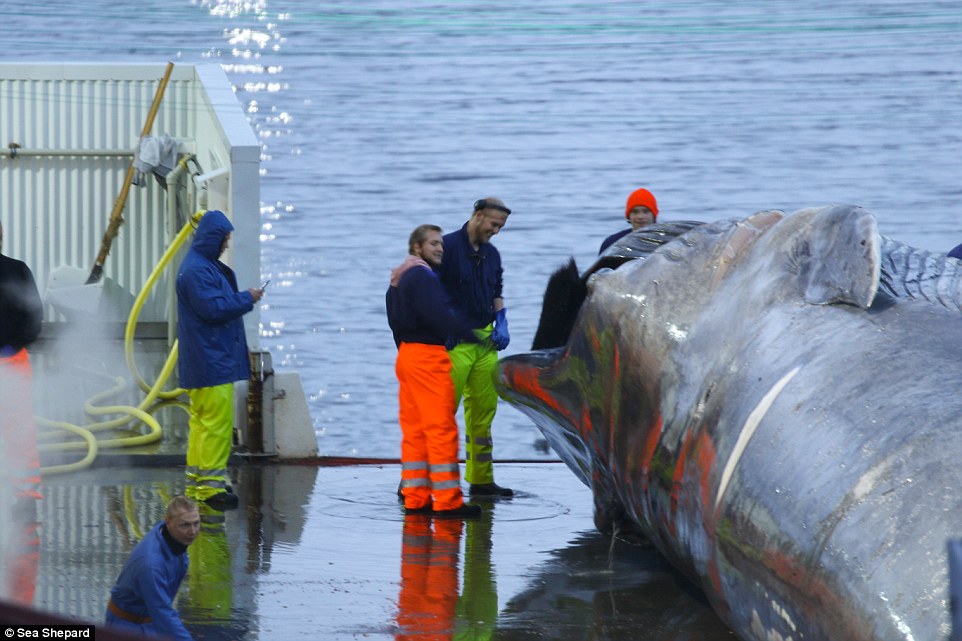
[[[826,207],[810,220],[795,257],[805,302],[870,307],[881,270],[875,217],[843,205]]]

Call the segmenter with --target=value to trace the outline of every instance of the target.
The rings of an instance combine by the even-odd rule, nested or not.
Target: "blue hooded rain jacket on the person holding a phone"
[[[180,384],[213,387],[248,378],[250,362],[242,317],[254,309],[250,292],[237,291],[234,270],[218,260],[234,226],[223,212],[204,214],[177,274]]]

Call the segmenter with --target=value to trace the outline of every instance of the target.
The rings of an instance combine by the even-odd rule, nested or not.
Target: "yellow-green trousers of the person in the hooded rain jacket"
[[[184,493],[203,501],[227,488],[227,459],[234,436],[234,384],[189,389],[187,395],[190,436]]]

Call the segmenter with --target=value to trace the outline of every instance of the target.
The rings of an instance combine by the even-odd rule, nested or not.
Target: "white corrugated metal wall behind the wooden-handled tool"
[[[27,262],[41,290],[60,266],[91,269],[100,251],[131,153],[165,64],[0,64],[0,222],[4,253]],[[203,171],[228,169],[223,207],[237,228],[233,261],[239,282],[260,277],[260,147],[219,65],[175,65],[152,135],[170,134],[195,150]],[[115,155],[12,157],[68,150]],[[152,177],[131,187],[125,224],[113,240],[104,275],[120,292],[118,320],[166,249],[166,192]],[[173,265],[176,267],[176,264]],[[161,282],[141,321],[172,315]],[[47,321],[62,321],[48,307]],[[257,345],[256,314],[245,318]]]

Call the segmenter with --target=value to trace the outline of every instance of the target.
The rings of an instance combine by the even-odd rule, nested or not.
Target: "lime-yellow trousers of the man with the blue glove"
[[[482,332],[491,333],[491,326]],[[498,409],[494,377],[498,371],[498,352],[490,341],[459,343],[448,352],[454,381],[455,411],[464,401],[464,478],[468,483],[494,483],[491,423]]]

